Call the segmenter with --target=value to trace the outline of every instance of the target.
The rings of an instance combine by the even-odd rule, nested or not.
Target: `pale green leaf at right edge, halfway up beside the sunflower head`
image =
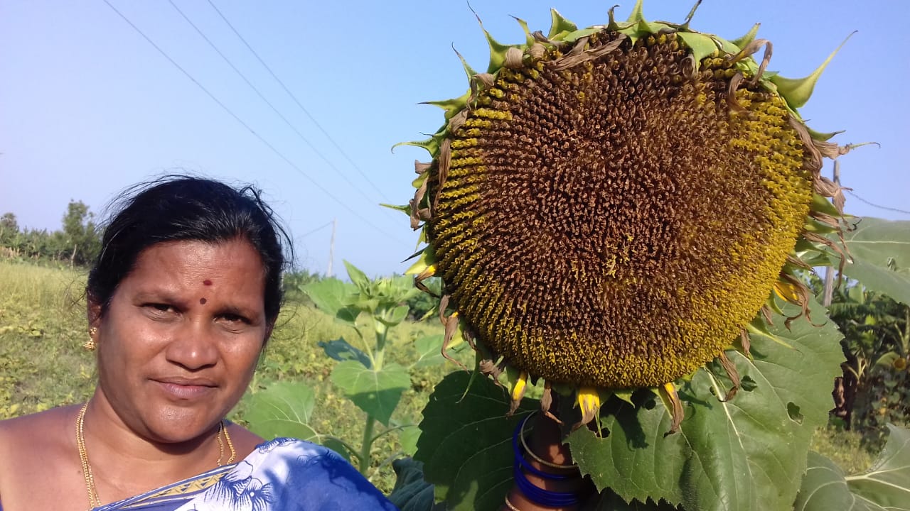
[[[846,276],[910,305],[910,221],[864,217],[844,241],[853,257]]]

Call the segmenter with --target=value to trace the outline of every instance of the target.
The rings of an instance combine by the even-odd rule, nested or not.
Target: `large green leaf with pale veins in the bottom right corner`
[[[910,510],[910,430],[888,428],[891,434],[882,454],[856,476],[844,477],[833,461],[810,452],[794,511]]]

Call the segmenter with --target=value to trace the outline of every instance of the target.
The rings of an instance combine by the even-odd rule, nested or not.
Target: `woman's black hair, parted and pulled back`
[[[104,316],[117,286],[133,271],[143,250],[169,241],[208,243],[243,239],[265,268],[265,312],[274,323],[281,309],[281,272],[291,257],[290,239],[252,186],[235,189],[200,177],[168,175],[136,185],[117,201],[88,274],[86,294]]]

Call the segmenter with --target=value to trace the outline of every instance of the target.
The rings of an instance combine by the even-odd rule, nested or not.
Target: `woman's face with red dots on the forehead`
[[[265,270],[245,240],[178,241],[139,254],[102,317],[100,397],[141,436],[191,440],[243,396],[268,334]]]

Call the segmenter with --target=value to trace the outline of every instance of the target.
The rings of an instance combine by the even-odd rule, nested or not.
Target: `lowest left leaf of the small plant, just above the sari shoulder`
[[[322,436],[309,426],[315,398],[313,389],[298,382],[278,382],[248,395],[244,419],[258,436],[292,436],[319,442]]]

